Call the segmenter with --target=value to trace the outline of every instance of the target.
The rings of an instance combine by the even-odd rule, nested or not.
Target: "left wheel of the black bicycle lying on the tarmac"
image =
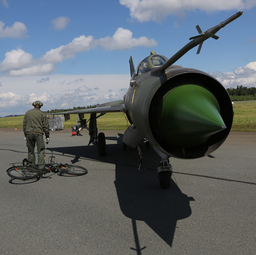
[[[13,179],[28,180],[40,175],[40,171],[32,166],[13,166],[7,170],[7,174]]]

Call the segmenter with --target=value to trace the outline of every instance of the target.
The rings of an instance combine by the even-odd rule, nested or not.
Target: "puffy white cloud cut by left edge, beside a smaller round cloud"
[[[4,28],[4,22],[0,21],[0,38],[24,38],[28,32],[26,26],[22,22],[14,22],[12,26]]]

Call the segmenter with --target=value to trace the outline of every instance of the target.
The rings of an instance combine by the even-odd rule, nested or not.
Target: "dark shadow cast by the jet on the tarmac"
[[[142,173],[138,173],[138,153],[136,149],[122,149],[122,134],[119,134],[117,144],[107,144],[105,157],[98,156],[98,148],[95,146],[54,147],[54,152],[68,154],[72,157],[71,163],[84,160],[102,161],[116,164],[116,192],[122,213],[132,220],[134,241],[136,247],[130,247],[137,254],[146,249],[146,244],[140,248],[136,227],[137,221],[144,221],[156,234],[168,245],[172,246],[176,223],[191,215],[190,201],[188,197],[171,181],[170,189],[161,189],[156,177],[156,169],[160,163],[160,157],[154,149],[142,148],[145,161],[142,163]],[[106,137],[108,139],[108,137]],[[114,140],[111,137],[111,140]],[[80,157],[82,159],[80,159]],[[86,161],[85,165],[86,167]],[[144,169],[144,170],[143,170]],[[90,169],[88,169],[90,171]]]

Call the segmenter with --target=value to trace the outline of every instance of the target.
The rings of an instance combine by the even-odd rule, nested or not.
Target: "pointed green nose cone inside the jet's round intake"
[[[172,142],[196,146],[226,128],[216,98],[205,88],[187,84],[163,99],[160,125]]]

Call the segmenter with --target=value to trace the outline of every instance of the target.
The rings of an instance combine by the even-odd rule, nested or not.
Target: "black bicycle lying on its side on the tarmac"
[[[49,156],[48,163],[48,173],[50,171],[54,173],[67,173],[70,175],[85,175],[88,173],[87,169],[80,165],[69,165],[57,163],[55,157],[53,156],[53,151],[49,148],[46,148],[52,152],[52,155]],[[39,165],[39,164],[38,164]],[[35,165],[32,165],[28,159],[23,159],[22,162],[10,163],[10,167],[6,170],[7,174],[13,179],[28,180],[42,177],[45,174],[44,170],[39,169]]]

